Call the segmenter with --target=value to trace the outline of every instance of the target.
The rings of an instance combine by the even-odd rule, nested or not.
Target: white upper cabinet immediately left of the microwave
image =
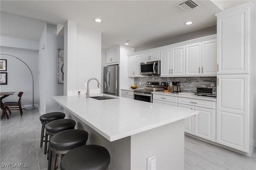
[[[141,77],[140,63],[142,55],[128,57],[128,77]]]

